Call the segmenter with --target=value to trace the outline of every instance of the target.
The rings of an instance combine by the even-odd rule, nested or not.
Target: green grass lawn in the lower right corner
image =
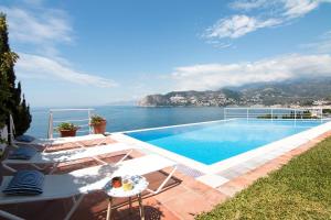
[[[331,219],[331,138],[196,219]]]

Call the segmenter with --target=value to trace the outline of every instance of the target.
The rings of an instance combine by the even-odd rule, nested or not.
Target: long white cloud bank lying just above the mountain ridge
[[[285,80],[303,76],[330,76],[331,55],[286,55],[253,63],[204,64],[175,68],[177,90],[218,89],[248,82]]]

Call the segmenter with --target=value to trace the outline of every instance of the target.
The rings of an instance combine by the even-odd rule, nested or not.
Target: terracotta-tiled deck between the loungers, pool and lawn
[[[222,175],[226,178],[226,183],[217,186],[209,186],[203,180],[202,176],[196,177],[196,173],[188,169],[184,165],[180,165],[179,170],[167,184],[167,188],[154,196],[146,194],[143,196],[143,206],[146,210],[146,219],[194,219],[194,217],[202,212],[211,210],[215,205],[225,201],[233,197],[236,193],[252,185],[256,179],[267,176],[268,173],[280,168],[287,164],[292,157],[308,151],[317,143],[325,138],[331,136],[331,131],[309,140],[307,143],[297,146],[281,155],[276,155],[268,161],[256,162],[254,166],[231,167],[225,169]],[[109,143],[116,143],[118,140],[109,138]],[[65,147],[63,147],[65,148]],[[124,152],[117,154],[103,155],[107,162],[116,162],[120,158]],[[140,157],[145,154],[143,151],[134,151],[132,157]],[[66,173],[73,169],[95,165],[95,162],[89,160],[79,161],[79,163],[62,164],[58,173]],[[168,169],[156,172],[146,175],[150,182],[151,187],[157,187],[164,178]],[[2,175],[9,175],[1,169]],[[189,174],[189,175],[188,175]],[[223,177],[222,176],[222,177]],[[220,180],[218,175],[210,175],[209,180]],[[139,219],[138,204],[134,202],[134,212],[130,213],[127,207],[127,201],[124,199],[116,199],[115,202],[119,206],[115,212],[114,219]],[[64,213],[71,207],[71,199],[61,199],[54,201],[30,202],[21,205],[0,206],[1,210],[8,210],[11,213],[17,213],[25,219],[62,219]],[[107,210],[107,197],[104,193],[95,193],[88,195],[76,210],[72,219],[105,219]]]

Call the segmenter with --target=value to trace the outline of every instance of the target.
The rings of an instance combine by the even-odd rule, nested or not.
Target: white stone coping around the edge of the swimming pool
[[[232,119],[228,119],[232,120]],[[216,120],[216,121],[207,121],[207,122],[199,122],[199,123],[189,123],[189,124],[179,124],[172,127],[160,127],[156,129],[166,129],[166,128],[175,128],[175,127],[186,127],[186,125],[194,125],[194,124],[205,124],[205,123],[214,123],[221,121],[228,121],[228,120]],[[197,177],[197,180],[203,182],[204,184],[216,188],[218,185],[222,185],[229,179],[220,176],[218,174],[235,167],[241,164],[245,164],[249,160],[265,160],[265,162],[271,161],[291,150],[295,150],[302,144],[318,138],[319,135],[331,131],[331,121],[325,122],[323,124],[313,127],[306,131],[299,132],[297,134],[287,136],[285,139],[271,142],[269,144],[263,145],[255,150],[250,150],[248,152],[238,154],[236,156],[223,160],[212,165],[205,165],[203,163],[196,162],[192,158],[179,155],[177,153],[170,152],[168,150],[161,148],[159,146],[152,145],[150,143],[137,140],[135,138],[128,136],[125,133],[129,132],[138,132],[138,131],[150,131],[154,129],[142,129],[142,130],[134,130],[134,131],[126,131],[126,132],[116,132],[113,133],[111,136],[120,142],[134,144],[136,148],[145,153],[154,153],[161,156],[168,157],[172,161],[178,162],[193,170],[201,172],[203,175]]]

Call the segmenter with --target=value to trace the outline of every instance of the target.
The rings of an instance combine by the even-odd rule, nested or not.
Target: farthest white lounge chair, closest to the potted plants
[[[70,138],[56,138],[56,139],[34,139],[33,141],[26,142],[26,141],[19,141],[15,140],[14,134],[15,134],[15,129],[14,129],[14,123],[13,123],[13,118],[12,116],[9,117],[9,135],[10,135],[10,141],[11,144],[15,147],[19,147],[19,145],[31,145],[31,146],[41,146],[43,148],[43,152],[47,150],[49,146],[54,146],[54,145],[61,145],[61,144],[67,144],[67,143],[73,143],[77,145],[77,147],[84,146],[82,142],[84,141],[99,141],[95,145],[99,145],[100,143],[104,142],[106,139],[105,135],[103,134],[87,134],[83,136],[70,136]],[[35,147],[36,148],[36,147]],[[39,148],[36,148],[39,150]]]

